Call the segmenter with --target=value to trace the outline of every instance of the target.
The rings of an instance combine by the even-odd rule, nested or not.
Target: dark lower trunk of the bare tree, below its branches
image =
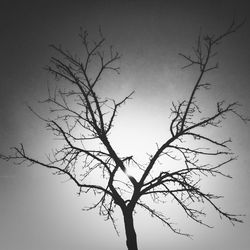
[[[132,211],[123,211],[125,232],[126,232],[126,244],[128,250],[138,250],[137,247],[137,238],[134,228],[133,212]]]

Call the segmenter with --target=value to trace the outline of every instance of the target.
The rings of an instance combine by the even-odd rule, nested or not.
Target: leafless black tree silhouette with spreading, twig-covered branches
[[[167,214],[155,210],[150,205],[152,202],[148,202],[150,199],[154,203],[166,203],[171,197],[190,219],[205,226],[209,225],[204,222],[206,214],[199,208],[200,203],[209,204],[233,224],[242,222],[238,215],[216,205],[220,196],[203,191],[200,181],[209,176],[230,177],[222,172],[222,167],[236,159],[229,148],[231,140],[210,137],[208,129],[220,127],[230,113],[244,122],[248,119],[238,113],[237,102],[226,104],[225,101],[217,102],[215,110],[205,116],[197,100],[197,91],[210,88],[204,76],[218,68],[214,61],[217,46],[242,24],[232,22],[218,36],[200,34],[193,55],[180,54],[187,62],[184,68],[197,67],[197,80],[187,99],[172,103],[170,137],[157,146],[148,164],[138,163],[134,156],[121,156],[112,146],[109,138],[116,115],[133,92],[119,101],[98,94],[97,86],[106,72],[119,73],[120,55],[113,47],[107,49],[101,32],[97,42],[90,42],[86,31],[80,33],[83,57],[51,45],[59,56],[51,57],[46,70],[61,86],[66,84],[67,87],[59,85],[53,93],[49,91],[45,103],[51,107],[50,118],[36,115],[61,140],[60,146],[52,151],[46,162],[33,158],[22,144],[13,148],[11,155],[1,155],[1,158],[15,160],[16,164],[38,164],[69,177],[79,187],[79,194],[93,192],[96,196],[96,202],[87,210],[98,208],[101,215],[113,222],[115,229],[114,209],[118,206],[124,217],[129,250],[138,249],[133,221],[136,207],[147,210],[173,232],[190,236],[176,228]],[[174,169],[172,162],[176,162]],[[132,165],[140,170],[140,178],[128,174],[127,169]]]

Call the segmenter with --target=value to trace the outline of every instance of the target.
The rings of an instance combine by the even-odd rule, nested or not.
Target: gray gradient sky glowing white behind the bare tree
[[[196,72],[181,70],[179,52],[189,53],[197,34],[223,31],[236,16],[247,23],[220,46],[219,70],[211,74],[214,88],[205,105],[216,100],[239,100],[250,115],[250,7],[247,1],[16,1],[0,10],[0,152],[23,142],[34,155],[48,152],[46,131],[25,104],[39,109],[36,101],[46,97],[48,74],[43,70],[52,51],[48,44],[62,44],[79,52],[79,27],[95,35],[101,25],[108,43],[123,55],[121,75],[107,90],[122,97],[136,90],[134,99],[121,110],[114,137],[126,153],[145,155],[162,140],[169,104],[189,95]],[[142,126],[143,123],[143,126]],[[125,131],[126,132],[120,132]],[[190,222],[178,209],[170,208],[178,227],[193,240],[174,235],[141,210],[135,216],[140,249],[245,250],[250,245],[250,128],[229,119],[219,134],[233,139],[239,155],[228,166],[231,180],[208,180],[209,188],[225,195],[221,206],[246,214],[245,223],[231,226],[208,209],[207,221],[214,229]],[[149,139],[145,139],[145,134]],[[218,135],[219,135],[218,134]],[[118,137],[119,135],[119,137]],[[129,139],[128,139],[129,138]],[[133,139],[133,145],[127,146]],[[114,138],[114,143],[117,143]],[[91,197],[77,197],[77,189],[64,178],[34,166],[17,168],[0,162],[0,246],[4,250],[125,250],[121,213],[117,211],[117,237],[110,222],[98,211],[82,212]]]

